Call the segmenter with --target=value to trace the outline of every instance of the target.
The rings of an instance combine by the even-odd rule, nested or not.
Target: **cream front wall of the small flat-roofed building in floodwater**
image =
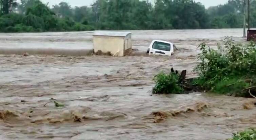
[[[93,36],[94,52],[111,52],[115,56],[124,55],[124,37]]]

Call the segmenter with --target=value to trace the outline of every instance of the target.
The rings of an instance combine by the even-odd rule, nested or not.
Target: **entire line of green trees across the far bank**
[[[93,29],[240,28],[242,0],[206,9],[194,0],[96,0],[91,6],[53,5],[40,0],[0,0],[1,32],[85,31]],[[251,0],[256,27],[256,0]]]

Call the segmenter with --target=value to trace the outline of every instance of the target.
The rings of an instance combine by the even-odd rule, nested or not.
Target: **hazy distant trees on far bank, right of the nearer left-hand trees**
[[[243,24],[242,0],[205,9],[193,0],[97,0],[90,7],[71,8],[65,2],[53,11],[97,29],[198,29],[240,28]],[[256,26],[256,0],[251,0],[251,25]]]

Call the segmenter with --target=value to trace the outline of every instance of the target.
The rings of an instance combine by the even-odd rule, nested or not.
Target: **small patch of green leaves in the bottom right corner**
[[[249,129],[245,130],[243,132],[238,132],[237,134],[233,134],[232,139],[228,140],[256,140],[256,130],[255,129]]]

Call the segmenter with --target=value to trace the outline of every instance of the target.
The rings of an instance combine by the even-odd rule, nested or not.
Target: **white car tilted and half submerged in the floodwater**
[[[174,53],[174,45],[171,42],[153,40],[147,49],[149,55],[167,55],[172,56]]]

